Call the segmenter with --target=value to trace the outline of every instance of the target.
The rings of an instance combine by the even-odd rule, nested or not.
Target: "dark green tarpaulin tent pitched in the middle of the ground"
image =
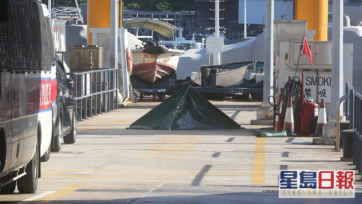
[[[238,123],[186,85],[131,124],[131,129],[238,129]]]

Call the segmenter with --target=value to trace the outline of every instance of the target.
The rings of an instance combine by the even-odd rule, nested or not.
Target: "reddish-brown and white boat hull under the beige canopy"
[[[144,53],[141,49],[132,50],[132,75],[153,83],[176,72],[179,56],[184,53],[183,50],[173,49],[168,49],[168,52],[161,54]]]

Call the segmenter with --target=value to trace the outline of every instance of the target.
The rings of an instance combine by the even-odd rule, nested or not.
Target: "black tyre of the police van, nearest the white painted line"
[[[38,188],[38,174],[39,174],[39,159],[40,159],[40,147],[37,140],[36,148],[33,159],[27,164],[25,176],[18,179],[18,190],[20,193],[35,193]]]

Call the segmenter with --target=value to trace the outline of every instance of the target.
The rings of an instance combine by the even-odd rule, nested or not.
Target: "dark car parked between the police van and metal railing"
[[[59,152],[61,140],[65,144],[75,143],[76,114],[73,99],[73,80],[67,78],[62,61],[56,59],[57,97],[53,104],[53,137],[51,151]]]

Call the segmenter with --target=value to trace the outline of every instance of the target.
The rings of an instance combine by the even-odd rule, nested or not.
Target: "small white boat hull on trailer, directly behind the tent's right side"
[[[216,73],[216,86],[228,87],[232,86],[242,80],[245,75],[245,71],[247,69],[246,66],[241,66],[238,69],[234,70],[221,70]],[[201,73],[200,72],[192,72],[191,80],[193,80],[196,84],[201,85]]]

